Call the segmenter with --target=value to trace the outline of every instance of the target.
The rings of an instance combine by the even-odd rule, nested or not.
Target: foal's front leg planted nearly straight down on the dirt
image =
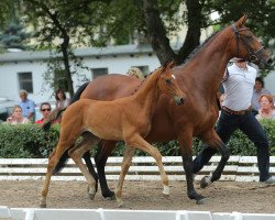
[[[125,175],[127,175],[127,173],[129,170],[129,167],[131,166],[134,152],[135,152],[135,148],[131,147],[131,146],[127,146],[127,148],[124,151],[124,156],[123,156],[123,161],[122,161],[122,165],[121,165],[120,177],[119,177],[119,182],[118,182],[118,185],[117,185],[117,188],[116,188],[116,198],[117,198],[117,201],[119,202],[119,207],[121,207],[123,205],[123,201],[121,199],[123,182],[124,182]]]

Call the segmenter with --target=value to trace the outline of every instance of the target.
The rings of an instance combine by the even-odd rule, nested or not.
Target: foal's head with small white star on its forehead
[[[175,75],[172,73],[172,68],[175,66],[175,63],[172,62],[169,64],[165,64],[161,67],[161,75],[157,80],[157,86],[160,91],[174,98],[176,105],[184,103],[186,99],[186,95],[183,90],[178,87],[177,80]]]

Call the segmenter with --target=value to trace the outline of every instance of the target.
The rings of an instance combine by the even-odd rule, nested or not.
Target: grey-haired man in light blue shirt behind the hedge
[[[35,117],[34,101],[28,98],[28,92],[25,90],[21,90],[19,95],[21,98],[19,106],[22,108],[23,117],[28,118],[30,121],[34,121]]]

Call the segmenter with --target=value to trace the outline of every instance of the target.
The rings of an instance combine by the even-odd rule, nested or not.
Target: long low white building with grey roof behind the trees
[[[105,48],[76,50],[88,70],[73,77],[76,89],[86,80],[102,74],[125,74],[130,67],[140,67],[144,74],[153,72],[160,62],[150,45],[123,45]],[[53,101],[54,91],[43,77],[47,69],[48,52],[16,52],[0,54],[0,97],[19,100],[19,91],[28,88],[29,98],[36,103]],[[275,95],[275,72],[265,79],[265,88]]]

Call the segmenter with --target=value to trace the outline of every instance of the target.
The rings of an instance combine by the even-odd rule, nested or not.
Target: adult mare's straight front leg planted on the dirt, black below
[[[178,134],[178,143],[186,175],[187,195],[190,199],[195,199],[198,205],[204,204],[206,198],[199,195],[194,188],[193,155],[191,155],[193,133],[186,130],[182,131],[180,134]]]

